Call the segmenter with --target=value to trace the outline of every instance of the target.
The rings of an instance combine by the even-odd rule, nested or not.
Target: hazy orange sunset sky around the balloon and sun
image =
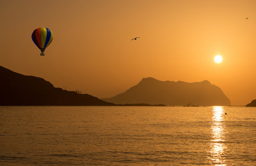
[[[0,65],[98,98],[143,77],[209,80],[232,104],[244,105],[256,99],[255,6],[255,0],[1,0]],[[31,39],[39,27],[54,35],[45,57]],[[223,56],[221,64],[215,55]]]

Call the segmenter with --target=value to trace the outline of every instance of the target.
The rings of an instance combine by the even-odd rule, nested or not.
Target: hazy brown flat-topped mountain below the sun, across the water
[[[115,104],[230,105],[230,100],[223,91],[207,80],[193,83],[163,82],[152,77],[143,78],[124,93],[102,100]]]

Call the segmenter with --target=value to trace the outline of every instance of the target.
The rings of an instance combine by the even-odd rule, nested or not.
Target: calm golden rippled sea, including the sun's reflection
[[[0,107],[0,165],[256,165],[256,108]]]

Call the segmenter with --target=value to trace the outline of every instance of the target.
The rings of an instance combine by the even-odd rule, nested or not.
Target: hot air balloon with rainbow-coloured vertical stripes
[[[32,39],[36,46],[41,50],[40,55],[45,55],[45,48],[51,44],[53,35],[48,28],[37,28],[32,33]]]

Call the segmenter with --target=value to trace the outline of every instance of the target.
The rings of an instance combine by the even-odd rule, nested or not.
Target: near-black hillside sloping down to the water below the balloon
[[[115,105],[88,94],[55,88],[40,77],[22,75],[0,66],[0,105]]]

